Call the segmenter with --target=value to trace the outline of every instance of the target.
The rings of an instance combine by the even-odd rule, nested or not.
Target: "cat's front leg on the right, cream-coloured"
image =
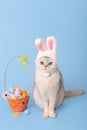
[[[56,101],[55,97],[50,98],[50,100],[49,100],[49,117],[52,117],[52,118],[56,117],[55,101]]]

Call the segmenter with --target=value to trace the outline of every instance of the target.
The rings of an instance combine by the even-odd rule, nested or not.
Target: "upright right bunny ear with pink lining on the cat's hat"
[[[47,43],[47,49],[48,50],[54,50],[54,51],[56,51],[57,41],[56,41],[55,37],[53,37],[53,36],[48,37],[47,40],[46,40],[46,43]]]

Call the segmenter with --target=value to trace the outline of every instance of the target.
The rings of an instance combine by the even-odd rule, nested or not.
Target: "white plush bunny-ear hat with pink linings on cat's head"
[[[36,39],[35,45],[39,50],[36,60],[40,57],[48,56],[52,59],[56,59],[56,39],[55,37],[51,36],[46,39],[46,43],[43,42],[42,39]]]

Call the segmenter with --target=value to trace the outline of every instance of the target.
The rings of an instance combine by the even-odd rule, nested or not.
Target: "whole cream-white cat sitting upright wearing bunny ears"
[[[48,37],[46,43],[42,39],[35,41],[39,53],[33,96],[35,103],[44,110],[44,117],[56,117],[55,109],[63,103],[64,98],[84,93],[83,90],[64,90],[62,75],[57,67],[56,44],[54,37]]]

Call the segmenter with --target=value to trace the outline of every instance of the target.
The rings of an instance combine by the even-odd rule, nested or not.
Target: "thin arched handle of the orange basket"
[[[8,71],[9,64],[10,64],[13,60],[15,60],[15,59],[17,59],[17,58],[20,59],[21,56],[14,56],[14,57],[12,57],[12,58],[9,60],[9,62],[7,63],[7,65],[6,65],[5,74],[4,74],[4,86],[5,86],[5,90],[6,90],[6,75],[7,75],[7,71]],[[30,73],[32,73],[31,68],[30,68]]]

